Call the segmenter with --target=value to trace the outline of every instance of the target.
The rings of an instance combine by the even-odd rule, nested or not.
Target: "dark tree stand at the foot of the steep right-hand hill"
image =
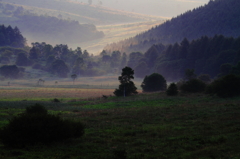
[[[156,44],[142,54],[132,52],[127,66],[135,70],[136,77],[144,78],[154,72],[169,81],[184,77],[186,69],[194,69],[197,75],[209,74],[216,77],[240,61],[240,37],[216,35],[203,36],[191,42],[184,38],[181,43]]]

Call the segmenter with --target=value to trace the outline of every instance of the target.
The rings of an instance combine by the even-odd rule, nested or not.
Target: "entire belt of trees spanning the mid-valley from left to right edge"
[[[69,74],[95,76],[118,73],[125,66],[135,70],[136,77],[157,72],[167,80],[176,81],[184,77],[186,69],[194,69],[197,75],[209,74],[216,77],[225,75],[240,61],[240,38],[227,38],[221,35],[213,38],[202,37],[193,40],[184,39],[180,44],[153,45],[145,54],[132,52],[129,55],[119,51],[102,51],[99,56],[90,55],[80,47],[72,50],[67,45],[32,43],[29,51],[11,53],[5,49],[0,56],[2,63],[13,61],[20,67],[32,66],[54,73],[59,77]],[[61,69],[60,69],[61,68]]]

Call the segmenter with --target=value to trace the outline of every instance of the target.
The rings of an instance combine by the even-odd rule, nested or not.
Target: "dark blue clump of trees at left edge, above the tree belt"
[[[26,39],[22,36],[18,27],[12,28],[0,25],[0,47],[24,47],[26,45]]]

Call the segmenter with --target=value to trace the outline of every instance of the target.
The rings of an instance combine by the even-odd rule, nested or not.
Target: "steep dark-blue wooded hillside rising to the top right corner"
[[[210,0],[205,6],[181,14],[128,40],[111,44],[105,50],[146,51],[156,43],[173,44],[184,38],[201,36],[240,36],[240,1]]]

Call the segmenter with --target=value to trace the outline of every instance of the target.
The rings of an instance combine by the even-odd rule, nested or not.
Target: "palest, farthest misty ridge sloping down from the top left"
[[[101,7],[101,5],[90,5],[69,0],[2,0],[2,3],[22,6],[29,12],[39,15],[61,17],[62,19],[70,18],[79,21],[81,24],[120,24],[145,21],[149,18],[156,19],[156,17],[111,10]]]

